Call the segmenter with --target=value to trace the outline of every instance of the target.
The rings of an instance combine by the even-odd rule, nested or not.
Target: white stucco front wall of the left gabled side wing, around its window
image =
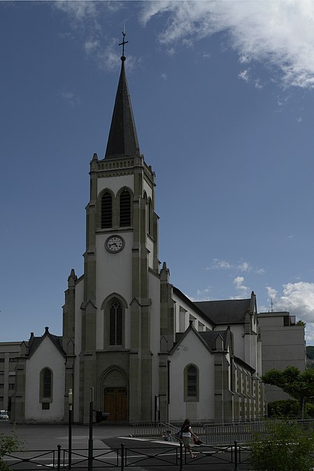
[[[50,368],[53,374],[52,402],[49,410],[43,410],[39,402],[40,371]],[[64,357],[49,337],[43,338],[36,352],[26,364],[25,419],[26,421],[58,422],[64,414]]]

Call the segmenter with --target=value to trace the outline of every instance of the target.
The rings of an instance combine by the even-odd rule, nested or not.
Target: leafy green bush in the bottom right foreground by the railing
[[[255,471],[312,471],[313,433],[296,422],[267,421],[267,435],[255,433],[248,442],[250,463]]]

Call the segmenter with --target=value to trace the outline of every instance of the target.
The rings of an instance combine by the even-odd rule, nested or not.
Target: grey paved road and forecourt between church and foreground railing
[[[8,421],[0,421],[0,433],[8,435],[12,433],[11,428]],[[58,445],[61,445],[61,450],[68,449],[68,426],[66,425],[17,425],[15,433],[29,454],[31,450],[57,450]],[[117,463],[117,451],[114,449],[121,449],[121,443],[124,443],[127,462],[128,464],[132,463],[130,470],[179,471],[178,443],[156,439],[138,439],[130,436],[132,434],[133,427],[131,426],[95,425],[93,428],[94,456],[98,455],[98,458],[94,461],[94,468],[105,470],[105,463],[108,466]],[[72,438],[72,463],[74,466],[78,461],[84,461],[84,457],[87,456],[89,427],[73,425]],[[184,471],[234,471],[234,463],[230,463],[228,451],[222,453],[213,447],[195,447],[195,451],[197,458],[191,459],[188,456],[184,461]],[[52,453],[43,454],[36,458],[35,463],[37,463],[36,465],[42,463],[42,465],[51,466],[53,460],[57,459],[56,456],[53,456]],[[67,456],[66,454],[66,460]],[[173,463],[177,463],[177,465],[172,466]],[[84,465],[80,471],[86,470]],[[25,468],[24,465],[23,469]],[[238,465],[239,471],[248,469],[248,465]]]

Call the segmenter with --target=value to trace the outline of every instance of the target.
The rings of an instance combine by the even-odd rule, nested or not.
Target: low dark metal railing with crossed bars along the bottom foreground
[[[219,465],[234,463],[232,470],[237,470],[237,456],[239,447],[237,443],[226,447],[200,446],[193,448],[196,455],[193,466]],[[3,456],[3,462],[13,471],[38,471],[38,467],[50,470],[86,470],[89,468],[89,449],[72,449],[69,460],[68,449],[19,451],[15,454]],[[109,470],[110,468],[124,471],[126,468],[165,466],[184,471],[185,465],[190,465],[192,459],[180,442],[165,445],[149,444],[149,447],[126,447],[121,443],[119,448],[94,449],[92,457],[92,470]],[[0,460],[1,465],[1,460]],[[230,468],[231,470],[231,468]]]

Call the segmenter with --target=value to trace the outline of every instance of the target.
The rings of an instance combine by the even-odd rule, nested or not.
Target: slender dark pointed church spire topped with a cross
[[[114,110],[112,113],[112,121],[110,133],[107,142],[105,158],[121,158],[134,157],[140,154],[140,147],[137,140],[135,121],[133,117],[132,106],[130,103],[130,94],[128,92],[128,82],[126,81],[126,72],[124,70],[124,45],[128,43],[124,38],[126,36],[123,31],[123,41],[121,56],[121,73],[117,89],[116,100],[114,102]]]

